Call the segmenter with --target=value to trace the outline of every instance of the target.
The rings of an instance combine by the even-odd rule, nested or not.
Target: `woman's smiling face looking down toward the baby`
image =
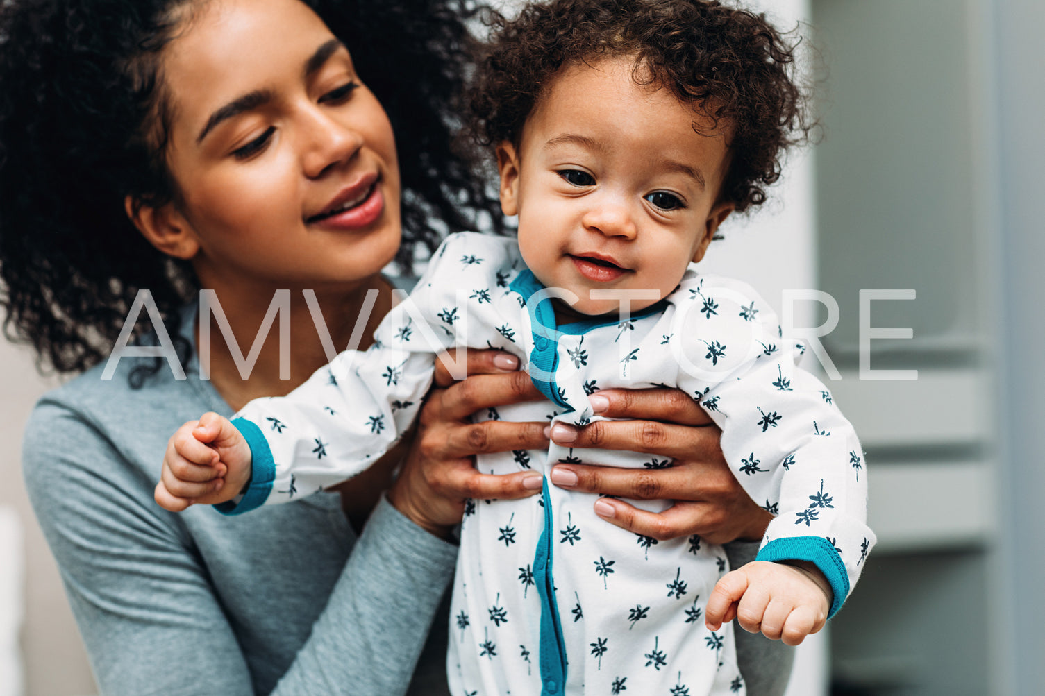
[[[168,209],[205,287],[351,287],[399,247],[388,116],[298,0],[216,0],[165,49]]]

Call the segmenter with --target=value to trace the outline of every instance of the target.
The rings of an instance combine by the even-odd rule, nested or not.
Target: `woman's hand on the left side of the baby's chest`
[[[518,371],[518,358],[496,350],[469,350],[467,374],[455,384],[443,361],[436,361],[436,385],[418,416],[402,471],[389,491],[396,509],[443,538],[461,521],[467,498],[526,497],[541,488],[536,471],[480,473],[474,455],[548,447],[547,422],[471,422],[471,415],[484,409],[544,398],[529,375]]]

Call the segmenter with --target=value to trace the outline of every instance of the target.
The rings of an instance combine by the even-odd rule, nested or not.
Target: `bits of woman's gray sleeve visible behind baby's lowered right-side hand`
[[[725,544],[729,567],[740,567],[754,560],[759,541],[734,541]],[[791,676],[794,648],[782,641],[770,641],[762,633],[748,633],[734,626],[737,644],[737,665],[744,677],[748,696],[783,696]]]

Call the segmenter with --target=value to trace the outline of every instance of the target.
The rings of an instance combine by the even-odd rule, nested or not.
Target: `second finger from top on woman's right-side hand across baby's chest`
[[[597,420],[584,427],[552,426],[552,440],[563,447],[624,449],[670,459],[720,459],[719,430],[655,420]]]

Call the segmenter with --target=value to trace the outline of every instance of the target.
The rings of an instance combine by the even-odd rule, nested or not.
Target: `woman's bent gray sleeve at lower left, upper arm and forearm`
[[[33,411],[23,453],[101,692],[253,696],[234,627],[191,539],[153,502],[154,482],[57,404]],[[456,551],[382,502],[272,693],[402,693]]]

